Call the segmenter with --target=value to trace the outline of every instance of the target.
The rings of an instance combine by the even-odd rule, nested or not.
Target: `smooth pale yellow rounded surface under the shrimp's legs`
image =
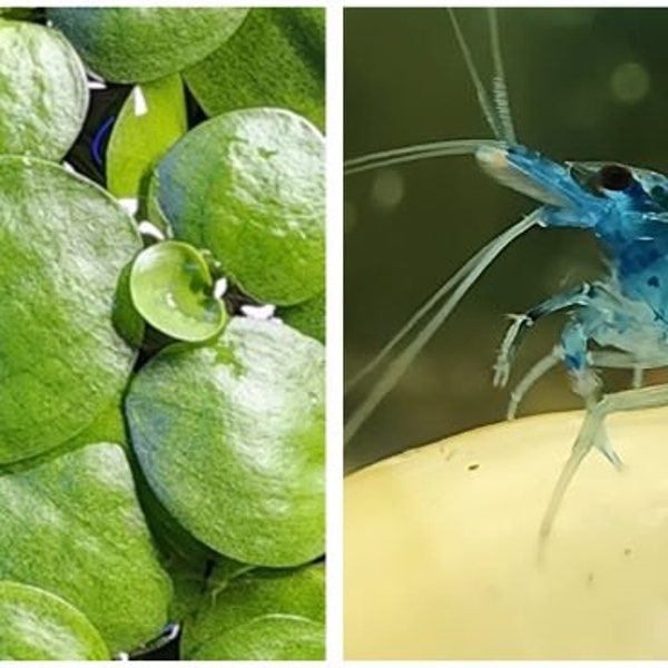
[[[346,480],[346,658],[668,658],[667,409],[608,420],[627,469],[587,458],[538,562],[581,419],[471,431]]]

